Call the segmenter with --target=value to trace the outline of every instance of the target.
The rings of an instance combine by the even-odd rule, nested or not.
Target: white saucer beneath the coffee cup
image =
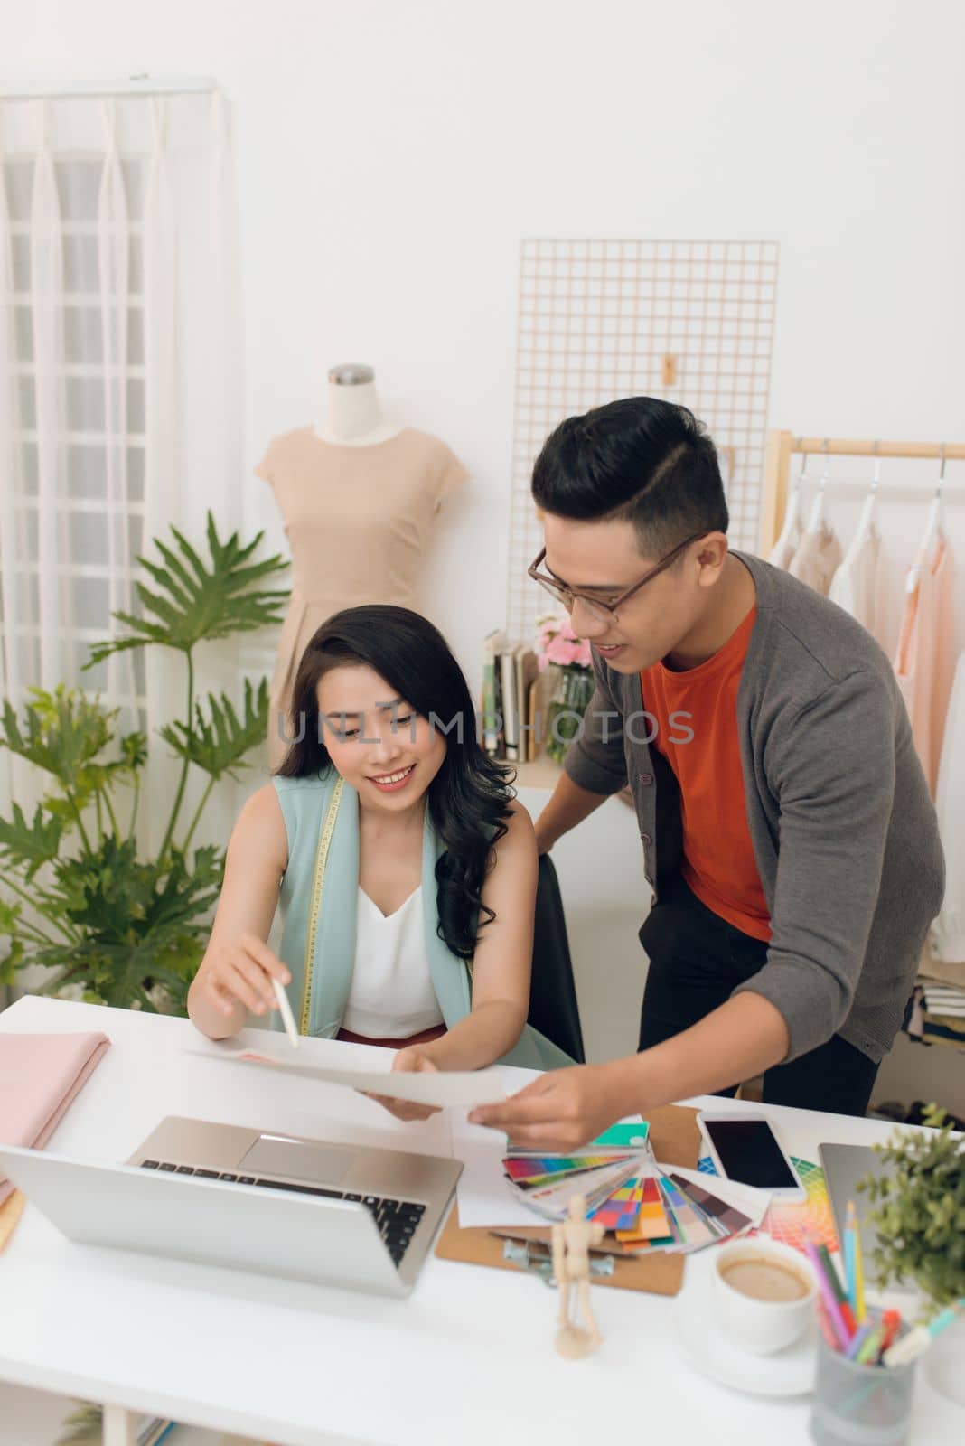
[[[812,1320],[793,1346],[771,1356],[753,1355],[728,1340],[714,1320],[711,1257],[689,1259],[673,1322],[685,1358],[695,1371],[751,1395],[806,1395],[813,1390],[818,1323]]]

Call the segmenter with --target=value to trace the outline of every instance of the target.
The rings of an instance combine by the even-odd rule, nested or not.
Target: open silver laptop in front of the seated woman
[[[0,1145],[0,1171],[72,1241],[407,1296],[462,1164],[172,1115],[123,1165]]]

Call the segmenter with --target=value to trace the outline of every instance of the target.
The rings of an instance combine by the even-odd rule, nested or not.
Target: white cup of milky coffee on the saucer
[[[774,1241],[731,1241],[714,1261],[714,1310],[728,1339],[754,1355],[793,1345],[815,1310],[809,1262]]]

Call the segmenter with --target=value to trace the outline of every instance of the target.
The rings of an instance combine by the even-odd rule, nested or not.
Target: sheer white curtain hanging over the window
[[[150,735],[142,842],[178,765],[181,655],[90,643],[137,612],[137,554],[205,513],[241,522],[241,292],[230,113],[217,91],[0,101],[0,696],[77,684]],[[120,629],[123,630],[123,629]],[[146,661],[144,661],[146,659]],[[237,694],[237,648],[205,645],[196,688]],[[32,807],[0,755],[0,808]],[[224,842],[233,791],[194,843]],[[198,797],[198,792],[194,795]],[[186,808],[191,808],[191,795]],[[188,814],[189,817],[189,814]]]

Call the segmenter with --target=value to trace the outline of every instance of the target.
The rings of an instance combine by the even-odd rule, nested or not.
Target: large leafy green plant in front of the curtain
[[[247,545],[237,534],[221,541],[211,513],[207,560],[176,528],[170,532],[170,547],[155,539],[160,562],[139,558],[156,584],[137,584],[143,616],[116,613],[127,635],[92,646],[87,664],[130,648],[183,655],[185,713],[159,730],[181,761],[162,843],[155,857],[140,856],[136,827],[147,739],[139,732],[118,737],[117,709],[65,687],[32,688],[22,717],[4,701],[0,748],[42,772],[46,792],[33,817],[14,803],[10,817],[0,818],[0,983],[39,964],[49,970],[39,993],[68,991],[94,1004],[185,1011],[224,872],[224,850],[191,852],[191,842],[212,788],[238,777],[269,723],[264,678],[257,690],[246,683],[240,710],[224,693],[198,698],[195,649],[280,622],[287,593],[263,584],[287,564],[277,555],[253,560],[261,534]],[[192,769],[205,785],[185,820]]]

